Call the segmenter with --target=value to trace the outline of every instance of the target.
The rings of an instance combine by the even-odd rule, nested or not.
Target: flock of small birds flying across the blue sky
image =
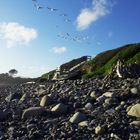
[[[36,8],[36,10],[47,9],[50,12],[59,11],[59,9],[57,9],[57,8],[48,7],[48,6],[45,7],[45,6],[40,5],[37,0],[32,0],[32,2],[33,2],[34,7]],[[63,19],[64,22],[68,22],[68,23],[72,22],[72,20],[69,18],[69,15],[67,13],[61,13],[61,14],[59,14],[59,16],[64,18]],[[56,28],[59,28],[59,25],[56,25]],[[92,40],[92,38],[90,38],[87,35],[76,35],[76,36],[74,36],[74,35],[71,35],[68,32],[59,32],[57,34],[57,37],[65,39],[67,41],[71,40],[71,41],[77,42],[77,43],[83,43],[84,42],[86,44],[91,44],[91,40]]]

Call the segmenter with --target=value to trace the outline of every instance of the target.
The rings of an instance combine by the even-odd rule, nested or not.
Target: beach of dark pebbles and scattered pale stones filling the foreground
[[[1,140],[139,140],[140,78],[0,87]]]

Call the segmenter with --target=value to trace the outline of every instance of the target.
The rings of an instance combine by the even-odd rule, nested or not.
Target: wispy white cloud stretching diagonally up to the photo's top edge
[[[111,0],[92,0],[92,8],[82,9],[78,15],[76,19],[77,29],[87,29],[93,22],[109,14],[113,5]]]

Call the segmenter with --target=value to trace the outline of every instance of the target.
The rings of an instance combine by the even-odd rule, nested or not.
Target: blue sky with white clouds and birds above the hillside
[[[38,77],[140,42],[140,0],[0,0],[0,73]]]

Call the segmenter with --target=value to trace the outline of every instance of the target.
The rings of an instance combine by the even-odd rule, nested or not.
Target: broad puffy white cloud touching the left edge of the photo
[[[37,38],[37,31],[16,22],[0,23],[0,39],[6,43],[7,48],[16,45],[28,45]]]

